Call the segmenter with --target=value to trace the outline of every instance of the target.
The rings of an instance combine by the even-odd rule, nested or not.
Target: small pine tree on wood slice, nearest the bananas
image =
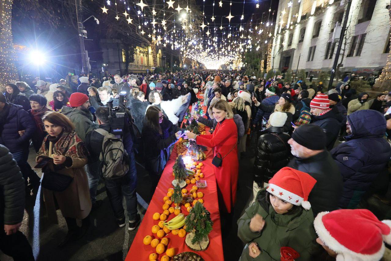
[[[192,244],[200,243],[212,231],[210,213],[200,202],[195,203],[185,220],[186,231],[193,232]]]

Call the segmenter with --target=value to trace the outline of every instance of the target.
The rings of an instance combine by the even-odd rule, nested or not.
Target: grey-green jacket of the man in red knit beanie
[[[75,132],[81,140],[86,139],[86,134],[91,130],[96,130],[99,125],[93,122],[93,116],[91,112],[84,112],[82,110],[63,106],[61,113],[68,117],[75,125]]]

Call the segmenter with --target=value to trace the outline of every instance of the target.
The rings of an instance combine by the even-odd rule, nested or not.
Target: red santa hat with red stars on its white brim
[[[308,195],[315,183],[316,179],[307,173],[283,167],[269,180],[269,187],[266,191],[286,202],[296,206],[301,205],[304,209],[309,210],[311,204],[308,202]]]

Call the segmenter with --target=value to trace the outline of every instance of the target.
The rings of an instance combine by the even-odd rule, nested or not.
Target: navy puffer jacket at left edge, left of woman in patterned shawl
[[[20,136],[19,130],[25,130],[25,133]],[[30,114],[22,109],[22,106],[5,103],[0,113],[0,144],[7,147],[11,153],[29,149],[29,140],[35,130],[34,121]]]

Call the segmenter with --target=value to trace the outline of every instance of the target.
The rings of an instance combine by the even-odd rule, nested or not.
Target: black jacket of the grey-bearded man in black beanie
[[[324,150],[306,159],[294,157],[288,163],[288,167],[308,173],[316,179],[316,184],[308,197],[314,217],[319,212],[338,208],[343,182],[341,172],[330,152]]]

